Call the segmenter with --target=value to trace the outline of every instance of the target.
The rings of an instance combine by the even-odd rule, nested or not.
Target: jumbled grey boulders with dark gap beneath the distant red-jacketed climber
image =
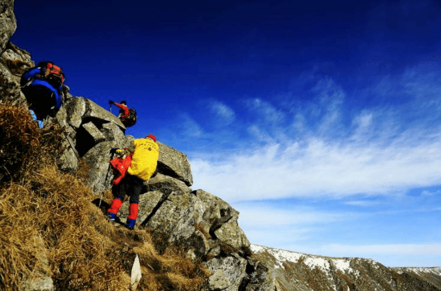
[[[124,148],[129,137],[124,135],[124,125],[120,120],[84,97],[68,94],[59,109],[56,120],[66,132],[66,150],[61,157],[60,167],[64,171],[78,169],[78,158],[89,164],[89,185],[94,192],[101,192],[108,174],[110,148]],[[106,188],[110,187],[106,183]]]

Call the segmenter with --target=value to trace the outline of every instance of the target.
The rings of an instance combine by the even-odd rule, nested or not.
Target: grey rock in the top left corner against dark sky
[[[14,15],[14,0],[2,0],[0,2],[0,54],[5,50],[10,36],[17,29]]]

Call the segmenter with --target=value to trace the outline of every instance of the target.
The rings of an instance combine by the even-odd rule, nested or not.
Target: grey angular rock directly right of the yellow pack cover
[[[159,173],[182,180],[187,186],[193,185],[193,176],[187,155],[160,141],[157,143],[159,146]]]

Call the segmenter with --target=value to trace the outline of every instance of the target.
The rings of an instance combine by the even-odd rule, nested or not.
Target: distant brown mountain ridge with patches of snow
[[[441,267],[388,268],[370,259],[324,257],[251,245],[252,257],[268,268],[273,290],[441,290]]]

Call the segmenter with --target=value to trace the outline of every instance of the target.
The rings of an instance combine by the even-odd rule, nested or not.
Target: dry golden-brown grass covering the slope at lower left
[[[197,290],[206,281],[201,262],[169,247],[159,255],[146,229],[108,222],[84,169],[57,169],[59,128],[40,130],[26,108],[0,106],[0,135],[0,290],[22,290],[39,274],[56,290],[128,290],[136,254],[138,290]]]

